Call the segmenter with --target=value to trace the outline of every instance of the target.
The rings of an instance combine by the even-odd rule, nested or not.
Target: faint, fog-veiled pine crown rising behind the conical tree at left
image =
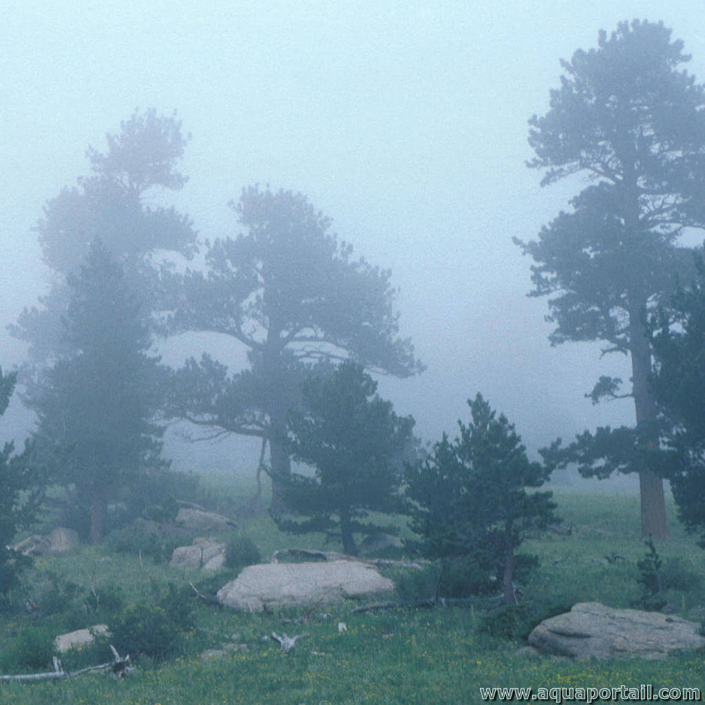
[[[95,240],[123,262],[126,276],[152,308],[161,304],[150,255],[169,250],[192,257],[195,252],[196,233],[188,217],[173,207],[145,203],[155,192],[179,190],[187,181],[176,168],[188,143],[176,114],[135,111],[106,140],[107,152],[87,150],[90,174],[49,200],[37,223],[42,259],[55,276],[39,307],[25,309],[10,330],[30,343],[30,359],[38,367],[72,352],[61,323],[69,298],[66,276],[78,271]]]

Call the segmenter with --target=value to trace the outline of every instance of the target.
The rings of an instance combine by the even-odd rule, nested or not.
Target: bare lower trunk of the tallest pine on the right
[[[641,311],[630,312],[630,348],[632,353],[632,390],[637,427],[656,421],[656,400],[649,389],[651,348]],[[649,444],[656,443],[654,438]],[[654,540],[668,539],[666,528],[666,498],[663,480],[648,468],[639,471],[639,496],[642,506],[642,536]]]

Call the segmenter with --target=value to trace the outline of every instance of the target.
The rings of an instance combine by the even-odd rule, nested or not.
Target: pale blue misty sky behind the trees
[[[546,301],[525,297],[530,261],[511,238],[535,238],[576,187],[539,188],[524,165],[527,119],[546,112],[559,59],[596,46],[598,30],[619,20],[662,19],[702,82],[701,3],[2,5],[4,369],[25,351],[4,326],[46,288],[32,231],[42,204],[87,171],[87,145],[104,150],[106,132],[153,106],[177,109],[192,133],[181,164],[190,181],[168,202],[202,238],[236,235],[227,202],[269,183],[307,194],[357,255],[392,269],[403,335],[428,369],[381,379],[380,391],[424,439],[454,435],[477,391],[530,449],[632,422],[628,401],[593,407],[583,397],[599,374],[627,379],[625,358],[551,348]],[[181,362],[200,355],[192,348],[161,350]]]

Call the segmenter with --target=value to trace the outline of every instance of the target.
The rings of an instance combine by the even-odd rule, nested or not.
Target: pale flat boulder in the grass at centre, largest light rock
[[[325,604],[391,592],[394,583],[374,565],[353,560],[249,565],[218,591],[228,607],[258,611],[267,606]]]

